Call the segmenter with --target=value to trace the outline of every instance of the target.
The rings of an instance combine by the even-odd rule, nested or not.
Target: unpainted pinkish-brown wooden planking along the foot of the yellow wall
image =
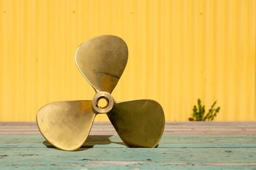
[[[35,122],[0,122],[0,134],[40,134]],[[90,134],[116,134],[109,122],[95,122]],[[167,122],[164,134],[256,134],[256,122]]]

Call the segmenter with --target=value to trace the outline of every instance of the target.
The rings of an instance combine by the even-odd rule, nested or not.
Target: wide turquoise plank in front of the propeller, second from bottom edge
[[[78,152],[64,152],[56,148],[0,148],[0,169],[79,169],[140,164],[148,168],[152,168],[152,164],[154,167],[190,167],[193,164],[256,167],[255,160],[256,148],[82,148]]]

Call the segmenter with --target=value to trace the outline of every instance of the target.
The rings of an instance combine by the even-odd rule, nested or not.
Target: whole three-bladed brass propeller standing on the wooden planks
[[[111,96],[124,72],[128,49],[117,36],[92,38],[76,50],[76,64],[95,89],[92,101],[50,103],[36,114],[38,129],[45,139],[61,150],[83,145],[97,114],[106,113],[127,146],[155,147],[164,130],[164,112],[152,100],[116,102]],[[100,106],[100,100],[106,106]]]

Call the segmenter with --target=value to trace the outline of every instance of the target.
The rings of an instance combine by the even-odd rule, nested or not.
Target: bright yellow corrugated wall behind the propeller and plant
[[[218,100],[216,120],[256,120],[255,32],[255,0],[0,0],[0,121],[92,99],[74,52],[101,34],[129,47],[117,101],[154,99],[166,120],[183,121],[200,97]]]

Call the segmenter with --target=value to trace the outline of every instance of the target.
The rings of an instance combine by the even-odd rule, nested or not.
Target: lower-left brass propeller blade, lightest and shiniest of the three
[[[92,101],[62,101],[42,107],[36,114],[42,135],[61,150],[83,145],[93,124]]]

